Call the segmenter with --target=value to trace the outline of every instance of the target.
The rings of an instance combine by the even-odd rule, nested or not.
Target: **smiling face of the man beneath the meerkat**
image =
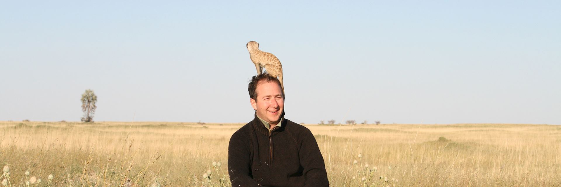
[[[255,93],[257,99],[250,99],[250,102],[257,111],[257,116],[270,125],[277,125],[284,110],[284,97],[280,86],[274,82],[259,83]]]

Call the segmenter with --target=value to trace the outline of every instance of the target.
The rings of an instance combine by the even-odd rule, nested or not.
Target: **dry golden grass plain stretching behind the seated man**
[[[0,121],[4,186],[231,186],[244,124]],[[305,125],[331,186],[561,186],[561,126]]]

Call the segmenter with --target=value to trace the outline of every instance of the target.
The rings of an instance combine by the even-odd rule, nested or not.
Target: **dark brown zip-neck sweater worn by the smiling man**
[[[314,135],[287,120],[271,132],[255,116],[230,139],[228,172],[234,187],[329,186]]]

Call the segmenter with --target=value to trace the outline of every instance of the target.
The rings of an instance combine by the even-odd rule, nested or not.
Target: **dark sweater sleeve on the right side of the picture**
[[[318,147],[318,142],[307,128],[302,130],[302,144],[300,147],[300,163],[304,167],[302,172],[306,176],[306,187],[329,186],[325,162]]]

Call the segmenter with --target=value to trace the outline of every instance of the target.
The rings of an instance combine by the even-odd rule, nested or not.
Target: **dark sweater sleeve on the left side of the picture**
[[[232,135],[228,145],[228,174],[233,187],[260,186],[253,180],[250,168],[250,139],[241,131]]]

